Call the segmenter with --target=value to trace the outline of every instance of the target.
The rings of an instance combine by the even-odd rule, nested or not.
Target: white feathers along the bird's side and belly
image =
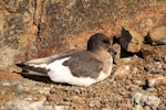
[[[100,73],[100,76],[94,79],[91,77],[74,77],[68,66],[63,66],[62,63],[68,61],[70,57],[59,59],[49,65],[51,69],[48,75],[50,79],[54,82],[68,82],[70,85],[76,86],[90,86],[94,82],[101,81],[105,79],[110,74],[105,74],[103,72]],[[112,69],[112,67],[111,67]],[[110,73],[111,73],[110,69]]]

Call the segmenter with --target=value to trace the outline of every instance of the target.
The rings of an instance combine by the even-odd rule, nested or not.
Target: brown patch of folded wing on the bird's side
[[[103,63],[87,51],[73,54],[63,65],[69,66],[71,73],[76,77],[96,78],[103,68]]]

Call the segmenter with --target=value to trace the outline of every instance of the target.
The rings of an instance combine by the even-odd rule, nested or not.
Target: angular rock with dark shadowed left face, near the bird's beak
[[[138,53],[142,48],[143,36],[133,30],[122,29],[120,43],[126,52]]]

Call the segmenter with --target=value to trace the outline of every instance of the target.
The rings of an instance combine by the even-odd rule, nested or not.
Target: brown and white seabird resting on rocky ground
[[[96,33],[90,37],[84,51],[37,58],[18,66],[27,74],[49,76],[54,82],[90,86],[111,75],[115,53],[110,38]]]

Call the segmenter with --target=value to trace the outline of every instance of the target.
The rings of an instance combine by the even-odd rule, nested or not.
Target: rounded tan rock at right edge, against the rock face
[[[149,41],[153,45],[166,44],[166,26],[160,26],[160,28],[151,30]]]

